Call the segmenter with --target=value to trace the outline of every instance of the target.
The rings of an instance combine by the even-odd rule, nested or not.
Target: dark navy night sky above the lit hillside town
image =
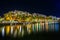
[[[59,0],[5,0],[0,1],[0,15],[11,11],[22,10],[30,13],[36,12],[45,15],[53,15],[60,17],[60,1]]]

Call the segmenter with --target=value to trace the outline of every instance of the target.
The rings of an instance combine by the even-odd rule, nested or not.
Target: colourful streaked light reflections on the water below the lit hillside
[[[23,36],[26,33],[30,34],[31,32],[42,32],[44,30],[48,31],[59,31],[59,23],[36,23],[36,24],[27,24],[27,25],[6,25],[3,26],[1,29],[2,36],[6,35],[13,35],[14,37]],[[47,27],[47,28],[46,28]]]

